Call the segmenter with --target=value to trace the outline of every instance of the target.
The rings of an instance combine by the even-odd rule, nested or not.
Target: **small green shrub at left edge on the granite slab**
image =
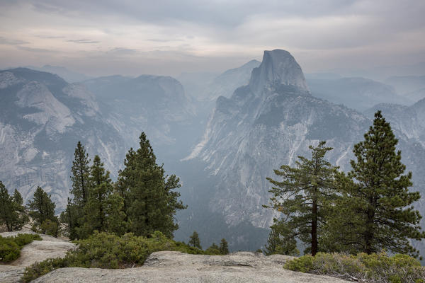
[[[36,234],[18,234],[15,237],[0,236],[0,262],[11,262],[19,258],[21,248],[33,240],[41,241],[41,237]]]

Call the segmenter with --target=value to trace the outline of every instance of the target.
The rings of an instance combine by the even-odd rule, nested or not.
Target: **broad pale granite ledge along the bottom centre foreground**
[[[254,253],[210,256],[165,251],[152,253],[142,267],[125,270],[62,268],[33,282],[346,282],[333,277],[285,270],[283,263],[288,258]]]

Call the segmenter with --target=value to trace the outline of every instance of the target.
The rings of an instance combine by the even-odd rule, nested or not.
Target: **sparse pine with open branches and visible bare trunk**
[[[282,231],[292,231],[294,237],[307,244],[305,253],[315,255],[319,250],[319,237],[324,224],[325,204],[335,195],[334,175],[337,168],[324,159],[330,147],[325,147],[325,141],[318,146],[310,146],[312,159],[298,156],[296,167],[283,165],[275,174],[283,180],[267,178],[275,187],[270,192],[271,208],[283,213],[287,226]],[[265,206],[268,207],[268,206]],[[288,237],[282,235],[283,237]]]

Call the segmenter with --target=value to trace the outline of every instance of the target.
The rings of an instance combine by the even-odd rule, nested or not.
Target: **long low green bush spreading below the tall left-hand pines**
[[[24,282],[38,278],[62,267],[126,268],[143,265],[147,257],[159,250],[175,250],[182,253],[208,254],[185,243],[175,242],[155,231],[151,238],[127,233],[121,237],[109,233],[95,233],[76,241],[77,249],[69,250],[64,258],[36,262],[26,268]]]

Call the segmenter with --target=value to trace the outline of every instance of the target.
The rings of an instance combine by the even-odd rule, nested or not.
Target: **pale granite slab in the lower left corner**
[[[18,233],[35,234],[29,229],[21,231],[4,232],[0,236],[10,237],[16,236]],[[46,260],[47,258],[63,258],[68,250],[75,248],[74,243],[62,238],[55,238],[48,235],[39,234],[42,241],[33,241],[24,246],[21,250],[21,256],[10,262],[8,265],[0,265],[0,282],[21,282],[21,276],[25,267],[32,265],[35,262]]]

